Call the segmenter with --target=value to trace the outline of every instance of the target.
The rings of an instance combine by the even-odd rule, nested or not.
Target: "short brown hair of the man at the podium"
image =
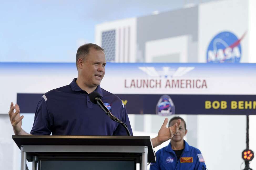
[[[76,61],[75,61],[76,68],[77,68],[78,59],[79,58],[85,59],[85,57],[90,52],[90,48],[94,48],[95,50],[101,50],[104,52],[104,49],[101,48],[100,46],[98,46],[97,44],[88,43],[88,44],[84,44],[84,45],[80,46],[76,52]]]

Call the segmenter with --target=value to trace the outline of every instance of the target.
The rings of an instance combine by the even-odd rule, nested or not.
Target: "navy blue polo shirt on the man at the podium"
[[[126,123],[132,135],[125,105],[116,95],[96,88],[111,113]],[[40,99],[32,130],[33,135],[127,135],[120,123],[114,122],[89,95],[76,84],[76,78],[67,86],[53,89]]]

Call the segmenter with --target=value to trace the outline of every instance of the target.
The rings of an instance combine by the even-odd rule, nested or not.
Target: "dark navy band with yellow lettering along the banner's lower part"
[[[116,95],[123,101],[129,114],[157,114],[160,98],[164,94]],[[256,115],[256,95],[167,95],[175,106],[175,114]],[[18,93],[17,104],[21,108],[21,113],[35,113],[38,101],[42,96],[43,94]]]

